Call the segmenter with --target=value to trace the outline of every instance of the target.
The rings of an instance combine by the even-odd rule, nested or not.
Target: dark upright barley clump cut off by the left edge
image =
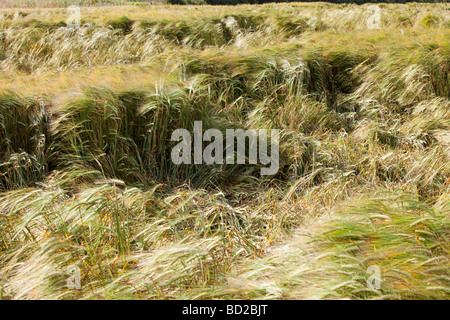
[[[0,188],[33,185],[51,170],[49,110],[43,100],[0,96]]]

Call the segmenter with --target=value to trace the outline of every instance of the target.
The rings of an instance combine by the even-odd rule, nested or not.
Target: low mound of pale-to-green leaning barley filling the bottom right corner
[[[411,194],[347,202],[248,261],[224,292],[266,299],[448,299],[448,207]],[[371,268],[381,281],[368,286]]]

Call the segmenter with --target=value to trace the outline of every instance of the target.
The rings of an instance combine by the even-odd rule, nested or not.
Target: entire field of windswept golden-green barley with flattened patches
[[[370,5],[0,8],[0,299],[449,299],[450,4]]]

